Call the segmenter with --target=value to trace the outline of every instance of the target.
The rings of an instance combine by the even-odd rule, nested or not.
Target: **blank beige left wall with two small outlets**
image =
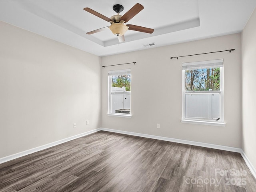
[[[100,70],[98,56],[0,22],[0,158],[99,128]]]

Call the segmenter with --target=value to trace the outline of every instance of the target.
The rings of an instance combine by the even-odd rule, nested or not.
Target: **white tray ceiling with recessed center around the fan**
[[[110,18],[114,4],[124,6],[123,15],[136,3],[144,9],[127,24],[154,28],[152,34],[128,30],[119,46],[110,30],[86,34],[110,23],[83,8]],[[255,7],[256,0],[1,0],[0,20],[106,56],[241,32]]]

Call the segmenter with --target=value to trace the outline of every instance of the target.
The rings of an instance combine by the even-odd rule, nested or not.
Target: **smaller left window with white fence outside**
[[[131,116],[131,70],[108,72],[108,114]]]

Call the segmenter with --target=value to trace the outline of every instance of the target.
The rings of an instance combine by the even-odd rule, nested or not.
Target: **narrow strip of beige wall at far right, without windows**
[[[256,10],[242,32],[242,149],[256,168]]]

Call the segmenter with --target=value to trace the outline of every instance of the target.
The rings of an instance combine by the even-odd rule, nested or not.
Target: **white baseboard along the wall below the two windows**
[[[158,139],[163,141],[170,141],[175,143],[182,143],[182,144],[188,144],[188,145],[194,145],[194,146],[200,146],[200,147],[207,147],[212,149],[220,149],[225,151],[232,151],[232,152],[241,152],[240,148],[235,147],[228,147],[228,146],[222,146],[222,145],[215,145],[215,144],[209,144],[209,143],[202,143],[202,142],[196,142],[196,141],[188,141],[188,140],[182,140],[182,139],[175,139],[170,137],[162,137],[162,136],[155,136],[155,135],[148,135],[148,134],[142,134],[142,133],[135,133],[135,132],[128,132],[128,131],[120,131],[120,130],[114,130],[114,129],[108,129],[108,128],[100,128],[102,131],[108,131],[108,132],[115,132],[115,133],[121,133],[126,135],[133,135],[133,136],[139,136],[139,137],[145,137],[145,138],[151,138],[151,139]]]

